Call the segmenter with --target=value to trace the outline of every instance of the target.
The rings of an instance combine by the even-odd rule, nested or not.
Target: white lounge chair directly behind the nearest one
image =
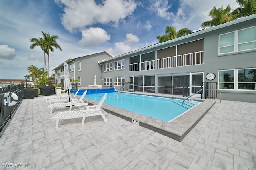
[[[80,97],[80,99],[72,99],[71,102],[64,102],[64,103],[53,103],[53,104],[50,104],[48,105],[47,107],[48,108],[51,108],[51,112],[53,111],[54,108],[59,108],[59,107],[70,107],[69,111],[71,111],[72,109],[72,106],[75,106],[76,103],[83,103],[83,104],[80,104],[80,105],[77,105],[76,107],[82,107],[82,106],[86,106],[88,105],[88,103],[84,103],[84,96],[86,95],[87,93],[87,90],[84,91],[83,95]],[[83,108],[82,108],[83,109]]]

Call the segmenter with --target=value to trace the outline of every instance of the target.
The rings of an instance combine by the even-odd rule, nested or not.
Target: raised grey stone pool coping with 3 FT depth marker
[[[89,105],[98,105],[98,101],[88,99],[86,96],[84,101],[88,102]],[[139,124],[139,126],[148,128],[180,142],[190,132],[190,130],[196,126],[196,124],[204,117],[204,115],[215,103],[215,101],[210,99],[204,100],[202,103],[196,105],[196,107],[193,107],[171,122],[141,115],[139,113],[107,105],[105,103],[103,103],[102,107],[104,111],[111,113],[112,115],[130,121],[131,123],[132,119],[134,119],[135,121],[139,122],[137,125]]]

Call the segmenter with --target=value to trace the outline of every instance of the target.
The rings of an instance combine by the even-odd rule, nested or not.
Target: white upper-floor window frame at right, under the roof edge
[[[232,31],[234,32],[234,44],[232,45],[227,45],[227,46],[222,46],[222,47],[229,47],[229,46],[233,46],[234,45],[234,51],[231,51],[231,52],[226,52],[226,53],[220,53],[220,37],[223,36],[223,35],[226,35],[226,34],[230,34],[232,32],[227,32],[225,34],[220,34],[219,35],[219,38],[218,38],[218,54],[219,55],[225,55],[225,54],[229,54],[229,53],[237,53],[237,52],[242,52],[242,51],[250,51],[250,50],[255,50],[256,48],[252,48],[252,49],[244,49],[244,50],[238,50],[238,46],[241,45],[241,44],[245,44],[245,43],[252,43],[252,42],[256,42],[256,40],[253,40],[253,41],[249,41],[249,42],[243,42],[243,43],[238,43],[238,33],[242,30],[246,30],[246,29],[250,29],[250,28],[254,28],[256,26],[252,26],[252,27],[248,27],[248,28],[243,28],[243,29],[240,29],[240,30],[235,30],[235,31]]]

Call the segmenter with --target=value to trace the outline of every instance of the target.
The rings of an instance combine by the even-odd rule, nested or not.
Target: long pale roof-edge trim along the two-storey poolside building
[[[140,51],[144,51],[144,50],[148,50],[150,48],[154,48],[154,47],[159,47],[161,45],[165,45],[165,44],[168,44],[168,43],[172,43],[172,42],[176,42],[176,41],[179,41],[179,40],[183,40],[183,39],[186,39],[186,38],[190,38],[190,37],[193,37],[193,36],[198,36],[200,34],[204,34],[204,33],[207,33],[207,32],[211,32],[211,31],[214,31],[214,30],[218,30],[220,28],[225,28],[227,26],[232,26],[234,24],[238,24],[240,22],[244,22],[244,21],[247,21],[247,20],[252,20],[256,18],[256,14],[253,14],[253,15],[250,15],[250,16],[246,16],[244,18],[239,18],[237,20],[234,20],[234,21],[230,21],[230,22],[226,22],[224,24],[220,24],[218,26],[214,26],[214,27],[210,27],[210,28],[206,28],[206,29],[203,29],[203,30],[199,30],[199,31],[196,31],[196,32],[193,32],[191,34],[188,34],[186,36],[182,36],[182,37],[178,37],[178,38],[175,38],[175,39],[172,39],[172,40],[169,40],[169,41],[166,41],[166,42],[162,42],[162,43],[157,43],[157,44],[154,44],[154,45],[150,45],[148,47],[144,47],[144,48],[141,48],[141,49],[137,49],[137,50],[134,50],[134,51],[131,51],[131,52],[128,52],[128,53],[124,53],[124,54],[121,54],[121,55],[117,55],[116,57],[114,58],[110,58],[110,59],[106,59],[105,61],[110,61],[110,60],[113,60],[113,59],[117,59],[117,58],[120,58],[120,57],[124,57],[126,55],[130,55],[130,54],[133,54],[133,53],[138,53]],[[99,63],[102,63],[102,62],[105,62],[105,61],[99,61]]]

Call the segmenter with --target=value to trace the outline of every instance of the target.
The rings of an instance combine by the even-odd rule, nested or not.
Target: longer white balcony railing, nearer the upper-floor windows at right
[[[199,65],[204,63],[204,51],[196,53],[189,53],[184,55],[177,55],[174,57],[162,58],[157,60],[157,68],[171,68],[188,65]]]

